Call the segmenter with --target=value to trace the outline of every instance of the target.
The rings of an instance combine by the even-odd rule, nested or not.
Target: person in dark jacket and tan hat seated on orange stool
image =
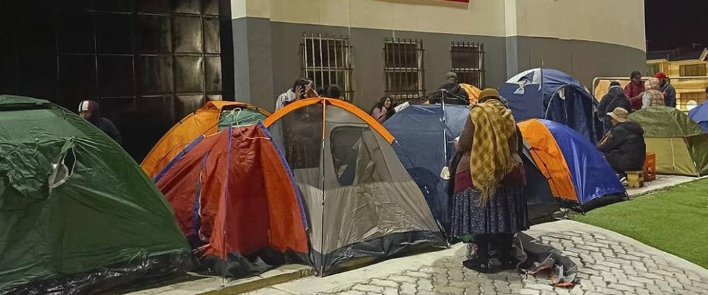
[[[627,122],[629,112],[624,108],[615,108],[607,115],[614,127],[600,140],[598,149],[617,173],[644,169],[644,129],[635,122]]]

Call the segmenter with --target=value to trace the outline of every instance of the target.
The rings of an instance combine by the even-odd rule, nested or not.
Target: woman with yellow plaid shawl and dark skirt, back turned
[[[462,158],[455,172],[451,231],[466,243],[474,239],[477,248],[465,267],[486,273],[497,265],[510,267],[513,236],[528,229],[521,140],[498,91],[481,91],[455,141]],[[493,266],[490,250],[498,254]]]

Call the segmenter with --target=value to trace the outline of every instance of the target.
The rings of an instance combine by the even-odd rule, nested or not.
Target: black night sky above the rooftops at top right
[[[708,0],[646,0],[647,50],[708,47]]]

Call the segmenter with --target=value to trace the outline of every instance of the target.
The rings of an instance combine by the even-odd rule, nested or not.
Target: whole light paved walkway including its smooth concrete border
[[[708,294],[708,270],[617,233],[575,221],[541,224],[527,233],[576,262],[580,284],[564,289],[542,275],[479,274],[462,267],[465,247],[455,245],[251,294]]]

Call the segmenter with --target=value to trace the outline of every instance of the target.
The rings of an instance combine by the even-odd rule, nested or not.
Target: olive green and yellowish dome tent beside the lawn
[[[708,175],[708,134],[671,107],[644,108],[629,115],[644,129],[646,152],[656,154],[656,173]]]

